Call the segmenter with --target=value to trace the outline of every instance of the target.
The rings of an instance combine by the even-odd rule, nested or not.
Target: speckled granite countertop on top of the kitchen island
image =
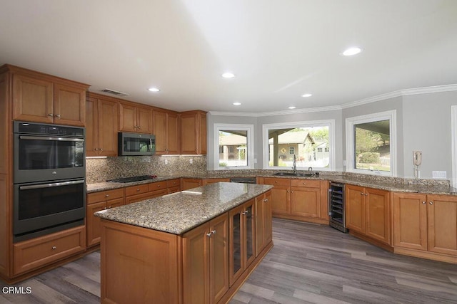
[[[95,215],[181,235],[271,188],[261,184],[220,182],[98,211]]]

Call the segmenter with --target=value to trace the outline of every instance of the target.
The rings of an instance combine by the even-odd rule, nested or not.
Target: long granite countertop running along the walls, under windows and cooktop
[[[446,195],[457,195],[457,189],[450,187],[445,184],[427,184],[423,180],[418,179],[416,184],[405,184],[398,182],[398,179],[391,177],[374,177],[371,179],[364,179],[358,177],[348,177],[346,175],[335,175],[335,174],[320,174],[314,177],[281,177],[275,176],[273,173],[262,173],[262,174],[239,174],[237,172],[230,172],[224,174],[199,174],[199,175],[167,175],[159,176],[156,179],[149,179],[141,182],[131,183],[116,183],[116,182],[101,182],[96,184],[87,184],[86,192],[99,192],[109,189],[118,189],[123,187],[135,186],[138,184],[148,184],[150,182],[161,182],[169,179],[176,178],[194,178],[194,179],[211,179],[211,178],[230,178],[230,177],[275,177],[275,178],[286,178],[286,179],[318,179],[328,180],[330,182],[336,182],[341,184],[353,184],[361,187],[370,187],[374,189],[388,190],[392,192],[410,192],[410,193],[424,193],[424,194],[446,194]]]

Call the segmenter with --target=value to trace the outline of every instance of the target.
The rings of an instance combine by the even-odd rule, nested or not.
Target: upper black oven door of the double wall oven
[[[14,135],[14,183],[84,177],[84,138]]]

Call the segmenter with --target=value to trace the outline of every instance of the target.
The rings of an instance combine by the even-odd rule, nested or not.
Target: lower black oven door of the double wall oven
[[[84,220],[84,179],[14,185],[14,236]],[[54,229],[55,231],[56,229]]]

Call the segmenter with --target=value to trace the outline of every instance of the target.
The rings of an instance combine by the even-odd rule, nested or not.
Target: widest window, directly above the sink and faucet
[[[263,125],[263,168],[333,170],[334,120]]]

